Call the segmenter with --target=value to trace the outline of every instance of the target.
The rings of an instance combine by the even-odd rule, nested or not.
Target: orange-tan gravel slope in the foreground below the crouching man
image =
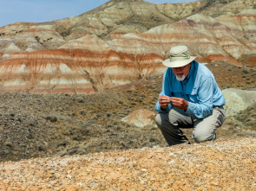
[[[0,190],[256,190],[256,139],[0,162]]]

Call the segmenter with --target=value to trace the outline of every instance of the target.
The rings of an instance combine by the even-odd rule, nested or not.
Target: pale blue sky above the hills
[[[185,3],[196,0],[145,0],[150,3]],[[108,0],[0,0],[0,27],[14,22],[50,22],[79,16]]]

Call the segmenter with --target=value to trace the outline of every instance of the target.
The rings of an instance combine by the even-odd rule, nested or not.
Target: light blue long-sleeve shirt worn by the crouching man
[[[213,107],[225,105],[224,96],[213,73],[196,61],[192,62],[190,72],[183,81],[176,80],[172,68],[168,67],[163,75],[159,96],[161,95],[186,99],[188,101],[187,116],[193,118],[207,118],[213,113]],[[167,110],[161,110],[159,102],[155,105],[159,113],[168,112],[172,107],[170,103]]]

